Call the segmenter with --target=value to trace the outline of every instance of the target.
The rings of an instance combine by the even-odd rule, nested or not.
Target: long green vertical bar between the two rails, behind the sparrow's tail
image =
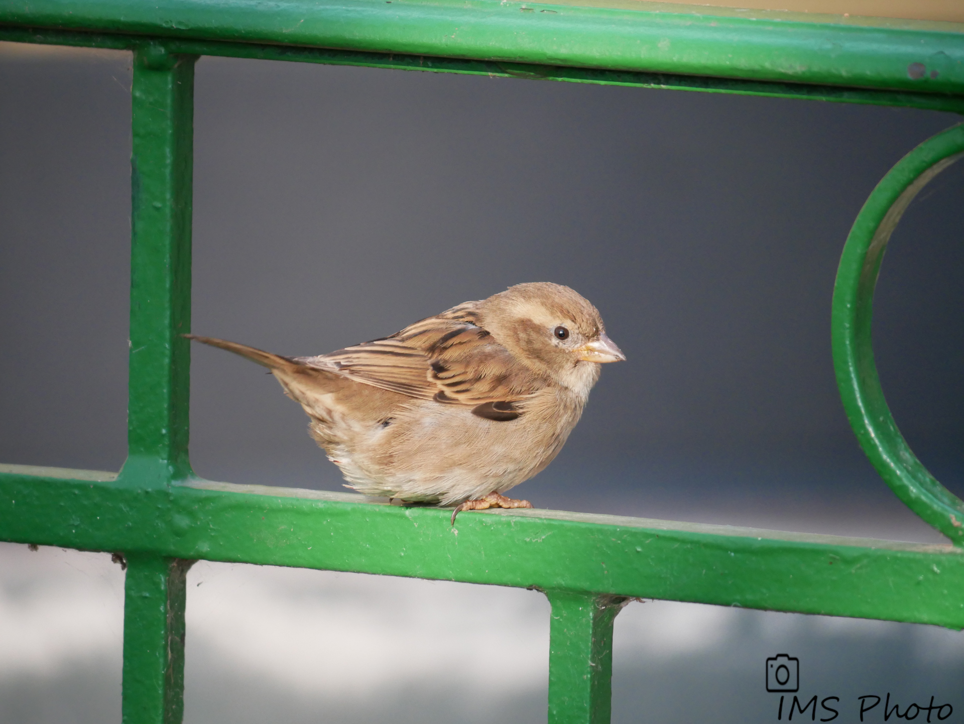
[[[134,52],[130,382],[125,482],[191,474],[188,390],[194,63],[147,44]]]

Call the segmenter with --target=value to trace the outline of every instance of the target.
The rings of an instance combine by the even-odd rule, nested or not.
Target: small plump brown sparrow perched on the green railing
[[[501,494],[546,468],[600,362],[626,357],[573,289],[518,284],[401,332],[318,357],[185,335],[268,367],[353,488],[452,514],[531,508]]]

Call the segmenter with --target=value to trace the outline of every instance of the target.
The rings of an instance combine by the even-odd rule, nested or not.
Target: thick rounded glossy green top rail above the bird
[[[790,13],[781,19],[774,13],[747,17],[647,7],[499,0],[0,0],[0,23],[964,94],[964,33],[955,24],[853,25]]]

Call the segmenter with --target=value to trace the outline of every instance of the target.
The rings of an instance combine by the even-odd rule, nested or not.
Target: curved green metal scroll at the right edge
[[[962,155],[964,123],[914,148],[877,184],[847,237],[831,321],[837,386],[857,440],[904,504],[956,546],[964,546],[964,501],[934,479],[897,430],[873,362],[870,322],[880,262],[900,217]]]

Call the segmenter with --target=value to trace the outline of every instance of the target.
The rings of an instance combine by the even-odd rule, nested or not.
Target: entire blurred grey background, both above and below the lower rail
[[[123,462],[130,78],[122,53],[0,49],[0,461]],[[829,314],[844,239],[870,190],[957,117],[211,58],[199,62],[196,87],[198,334],[319,354],[510,284],[569,284],[600,308],[629,361],[603,368],[570,442],[520,496],[537,507],[940,540],[879,480],[847,426]],[[901,431],[958,495],[962,192],[958,165],[911,206],[884,262],[874,321]],[[340,489],[304,415],[272,378],[218,350],[193,356],[199,474]],[[113,621],[120,610],[120,572],[58,551],[34,554],[48,556],[40,566],[21,549],[3,548],[0,621],[6,612],[9,641],[14,630],[34,638],[17,634],[7,668],[0,654],[0,720],[119,721],[119,629],[104,623],[102,646],[84,639],[64,653],[55,645],[66,640],[61,630],[44,630],[56,616],[36,612],[59,601],[69,622],[63,572],[84,571],[76,591],[101,602],[90,610],[103,615],[76,626],[95,630],[94,619]],[[548,629],[539,627],[548,607],[533,603],[535,594],[376,579],[371,585],[383,589],[356,592],[371,606],[367,618],[345,624],[368,643],[345,652],[395,660],[379,654],[378,641],[397,634],[399,651],[416,652],[419,630],[491,616],[526,625],[509,631],[489,668],[460,669],[484,642],[455,636],[413,653],[425,668],[401,656],[375,676],[362,661],[346,671],[368,688],[312,688],[279,673],[282,663],[258,668],[275,660],[272,647],[313,650],[310,637],[292,624],[271,638],[259,622],[306,597],[318,607],[287,611],[286,620],[312,621],[329,611],[332,591],[356,601],[353,586],[362,584],[349,581],[364,577],[301,572],[309,578],[281,584],[249,569],[192,573],[197,586],[220,580],[221,589],[209,588],[222,594],[189,600],[198,618],[189,622],[186,721],[545,719],[544,674],[526,679],[506,663],[528,660],[522,650],[545,656]],[[409,583],[404,592],[390,587]],[[411,611],[447,603],[419,620],[393,612],[398,601]],[[236,628],[218,634],[219,621],[234,620],[230,610]],[[329,611],[335,622],[338,610]],[[365,637],[366,620],[392,617],[393,629]],[[699,643],[686,644],[693,630],[702,631]],[[801,657],[801,672],[813,677],[804,688],[848,697],[849,709],[853,697],[890,688],[903,692],[901,707],[936,695],[964,713],[959,637],[633,603],[617,619],[614,721],[770,721],[776,705],[763,691],[763,659],[778,650]],[[230,641],[248,643],[231,653]],[[520,641],[528,643],[517,651]],[[52,653],[40,663],[15,654],[44,646]],[[312,679],[321,665],[313,658],[282,658],[304,661],[292,671],[307,682],[324,678]],[[504,680],[504,695],[460,705],[480,679]],[[857,720],[849,709],[839,720]],[[955,709],[951,721],[959,719]]]

